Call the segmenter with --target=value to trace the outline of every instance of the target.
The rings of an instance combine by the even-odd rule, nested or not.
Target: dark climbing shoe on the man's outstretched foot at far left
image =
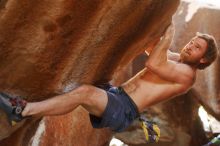
[[[12,126],[24,119],[21,113],[26,104],[27,102],[19,97],[0,92],[0,108],[5,111]]]

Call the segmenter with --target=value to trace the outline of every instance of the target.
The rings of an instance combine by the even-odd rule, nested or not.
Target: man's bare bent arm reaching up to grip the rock
[[[150,54],[146,67],[159,77],[174,83],[192,84],[194,77],[193,70],[190,66],[168,60],[167,49],[170,46],[172,35],[170,28],[167,30],[165,37]]]

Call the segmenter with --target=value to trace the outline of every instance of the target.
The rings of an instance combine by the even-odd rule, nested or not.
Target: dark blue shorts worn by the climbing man
[[[92,126],[109,127],[115,132],[121,132],[139,117],[137,106],[122,87],[109,86],[102,89],[107,92],[108,103],[102,117],[90,114]]]

